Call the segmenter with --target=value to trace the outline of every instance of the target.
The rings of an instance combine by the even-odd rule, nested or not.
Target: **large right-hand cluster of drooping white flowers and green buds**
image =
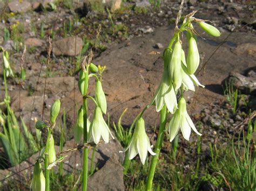
[[[194,75],[200,64],[200,55],[195,35],[197,32],[193,29],[191,22],[198,23],[203,30],[214,37],[220,36],[218,29],[205,23],[205,20],[188,16],[184,19],[180,29],[175,31],[169,46],[164,51],[163,76],[150,105],[155,103],[157,112],[163,110],[166,105],[167,110],[173,114],[168,126],[170,142],[177,136],[179,129],[181,129],[183,137],[186,140],[189,140],[190,138],[191,129],[196,132],[197,135],[201,136],[201,133],[197,131],[190,116],[187,114],[186,100],[183,96],[184,91],[195,91],[195,86],[204,88]],[[183,31],[186,31],[188,44],[187,56],[183,50],[182,41],[179,38],[180,33]],[[181,96],[177,100],[178,93],[180,93]],[[129,159],[134,158],[139,153],[140,160],[144,164],[147,151],[152,155],[156,153],[151,150],[149,138],[145,132],[144,121],[142,118],[143,112],[137,119],[136,128],[126,150],[129,149]]]

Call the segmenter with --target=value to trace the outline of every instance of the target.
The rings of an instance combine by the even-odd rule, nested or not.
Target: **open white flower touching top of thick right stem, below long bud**
[[[164,70],[161,83],[156,93],[156,110],[159,112],[166,104],[171,114],[177,109],[177,98],[167,70]]]

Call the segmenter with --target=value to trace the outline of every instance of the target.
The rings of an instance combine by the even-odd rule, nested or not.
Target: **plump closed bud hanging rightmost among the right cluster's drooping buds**
[[[187,70],[189,74],[196,72],[200,63],[200,56],[197,48],[197,41],[190,36],[188,39]]]

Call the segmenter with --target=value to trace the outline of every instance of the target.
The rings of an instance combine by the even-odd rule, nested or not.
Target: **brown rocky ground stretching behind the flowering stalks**
[[[23,0],[20,6],[16,6],[15,3],[0,2],[2,21],[0,45],[10,52],[11,66],[16,72],[19,71],[23,45],[27,47],[24,63],[26,80],[23,88],[19,90],[16,80],[8,82],[11,105],[16,115],[21,114],[25,123],[30,124],[33,130],[33,122],[30,121],[35,117],[41,117],[42,107],[47,118],[53,100],[60,98],[62,108],[65,108],[68,114],[66,140],[70,143],[66,143],[66,147],[71,146],[71,128],[75,116],[73,105],[82,104],[82,97],[77,88],[76,70],[79,66],[77,60],[82,59],[80,54],[85,55],[89,47],[93,47],[95,53],[93,63],[107,67],[103,75],[103,87],[111,121],[117,122],[122,111],[128,108],[123,117],[123,124],[129,126],[133,118],[151,101],[161,79],[163,60],[160,54],[149,53],[164,51],[173,34],[179,4],[163,1],[160,7],[154,8],[148,3],[143,3],[145,1],[127,1],[120,9],[113,12],[110,10],[112,7],[109,6],[108,12],[104,6],[95,8],[80,1],[78,4],[74,1],[70,5],[66,5],[63,1],[56,4],[55,8],[46,2],[49,0],[42,2]],[[240,109],[234,114],[230,105],[225,102],[223,81],[230,72],[247,75],[248,70],[254,71],[254,76],[251,77],[255,79],[256,5],[253,2],[190,1],[185,3],[183,15],[193,10],[199,10],[196,14],[197,18],[211,20],[221,31],[220,38],[211,38],[195,26],[201,36],[198,38],[201,67],[207,62],[206,67],[198,74],[198,79],[206,88],[197,89],[196,94],[186,94],[190,103],[189,113],[193,115],[194,121],[203,124],[200,131],[203,132],[202,149],[206,151],[209,149],[208,142],[213,143],[216,139],[223,140],[225,145],[227,129],[228,133],[232,134],[235,131],[234,127],[247,117],[247,112],[242,109],[244,103],[240,104]],[[100,31],[97,34],[99,26]],[[8,36],[6,29],[10,38],[6,37]],[[46,67],[48,36],[52,38],[53,49],[50,65]],[[213,54],[217,47],[217,51]],[[0,54],[2,63],[2,52]],[[0,73],[2,74],[2,67]],[[45,76],[47,83],[43,103]],[[93,83],[90,85],[91,88],[94,86]],[[255,87],[255,84],[253,86]],[[2,82],[0,90],[0,100],[3,100]],[[93,94],[91,90],[90,93]],[[22,101],[20,108],[19,95]],[[35,105],[32,104],[34,99]],[[255,103],[253,96],[246,96],[244,100],[251,105]],[[92,112],[90,104],[89,111]],[[156,135],[153,134],[151,127],[158,124],[157,117],[154,108],[146,111],[145,121],[147,131],[153,135],[152,141]],[[55,130],[55,135],[59,135],[58,129]],[[181,142],[183,152],[194,152],[187,151],[187,147],[193,146],[195,140],[196,136],[193,135],[189,144]],[[120,156],[117,157],[114,153],[117,153],[115,151],[120,150],[121,147],[116,141],[113,145],[104,146],[111,154],[106,154],[108,151],[98,148],[98,154],[102,155],[102,158],[95,162],[103,161],[100,163],[102,172],[107,169],[104,164],[113,165],[117,162],[120,166],[117,159]],[[164,150],[169,146],[167,144]],[[79,155],[78,152],[77,154]],[[71,162],[72,160],[68,158],[66,161],[69,161],[70,166],[73,167],[80,160]],[[119,170],[122,172],[122,166]],[[4,170],[2,178],[8,173],[9,171]],[[97,173],[93,176],[98,176]],[[114,182],[122,182],[122,180],[114,180]],[[118,189],[124,189],[124,185],[119,186]]]

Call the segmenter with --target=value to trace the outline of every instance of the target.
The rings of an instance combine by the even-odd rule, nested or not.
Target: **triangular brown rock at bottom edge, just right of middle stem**
[[[88,190],[125,190],[123,176],[123,166],[115,153],[103,168],[90,176]]]

